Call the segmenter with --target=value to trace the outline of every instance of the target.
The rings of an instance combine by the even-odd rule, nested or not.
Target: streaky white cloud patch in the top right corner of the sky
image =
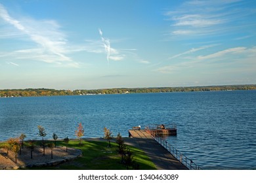
[[[255,14],[255,10],[244,9],[242,3],[246,1],[186,1],[175,10],[165,12],[171,22],[171,36],[219,35],[251,26],[245,18]]]

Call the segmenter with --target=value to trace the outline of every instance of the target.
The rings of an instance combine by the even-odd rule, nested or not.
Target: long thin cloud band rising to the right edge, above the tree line
[[[218,72],[226,71],[226,66],[228,68],[244,67],[246,69],[256,69],[255,65],[256,57],[256,46],[251,48],[247,47],[236,47],[236,48],[227,48],[213,54],[208,54],[204,56],[194,56],[186,61],[181,61],[179,63],[173,63],[159,67],[156,71],[160,73],[178,73],[178,72],[188,72],[193,69],[200,68],[201,71],[208,71],[207,68],[214,66],[218,68]],[[250,65],[250,67],[248,67]],[[236,68],[237,69],[237,68]],[[230,70],[231,71],[231,70]]]

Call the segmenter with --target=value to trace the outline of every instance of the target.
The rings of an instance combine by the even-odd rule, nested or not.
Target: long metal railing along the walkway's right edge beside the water
[[[190,170],[202,170],[201,167],[196,165],[192,159],[184,156],[177,148],[173,147],[169,142],[165,141],[163,138],[156,135],[156,133],[152,133],[150,130],[146,130],[158,143],[161,144],[166,150],[168,150],[171,155],[173,155],[178,161],[180,161],[183,165],[185,165]]]

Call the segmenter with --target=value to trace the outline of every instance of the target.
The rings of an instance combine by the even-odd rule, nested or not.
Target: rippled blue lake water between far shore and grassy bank
[[[256,169],[256,91],[0,98],[0,141],[41,139],[37,125],[47,139],[75,138],[79,122],[85,137],[176,123],[167,141],[203,169]]]

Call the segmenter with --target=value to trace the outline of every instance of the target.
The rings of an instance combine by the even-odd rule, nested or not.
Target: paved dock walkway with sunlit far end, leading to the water
[[[126,144],[136,146],[152,159],[160,170],[187,170],[188,168],[174,158],[161,144],[155,141],[144,130],[129,130],[131,138],[125,139]]]

